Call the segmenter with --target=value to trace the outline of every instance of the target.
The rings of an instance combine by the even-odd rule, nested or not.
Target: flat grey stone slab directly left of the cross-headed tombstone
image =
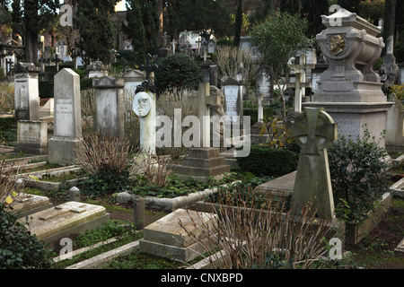
[[[267,195],[269,193],[272,196],[288,196],[294,192],[295,178],[296,171],[263,183],[262,185],[255,187],[253,192],[259,195]]]

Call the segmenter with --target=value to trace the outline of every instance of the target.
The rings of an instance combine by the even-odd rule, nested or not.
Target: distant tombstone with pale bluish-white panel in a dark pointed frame
[[[239,116],[242,119],[242,84],[230,77],[222,83],[224,93],[224,114],[235,121],[233,117]]]

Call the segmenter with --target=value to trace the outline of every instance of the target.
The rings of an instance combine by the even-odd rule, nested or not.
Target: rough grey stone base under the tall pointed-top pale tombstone
[[[59,165],[76,164],[75,149],[82,144],[79,139],[54,136],[48,143],[48,161]]]

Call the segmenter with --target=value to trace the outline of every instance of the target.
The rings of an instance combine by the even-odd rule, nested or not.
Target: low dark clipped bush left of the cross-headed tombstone
[[[237,158],[237,163],[241,170],[255,175],[280,177],[296,170],[297,158],[291,151],[251,145],[250,155]]]

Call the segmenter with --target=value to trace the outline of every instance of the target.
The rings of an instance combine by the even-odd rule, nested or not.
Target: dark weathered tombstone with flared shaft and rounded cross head
[[[294,207],[302,210],[305,204],[318,204],[320,217],[334,218],[327,147],[337,140],[337,124],[323,109],[306,108],[294,121],[291,136],[302,149],[294,181]]]

